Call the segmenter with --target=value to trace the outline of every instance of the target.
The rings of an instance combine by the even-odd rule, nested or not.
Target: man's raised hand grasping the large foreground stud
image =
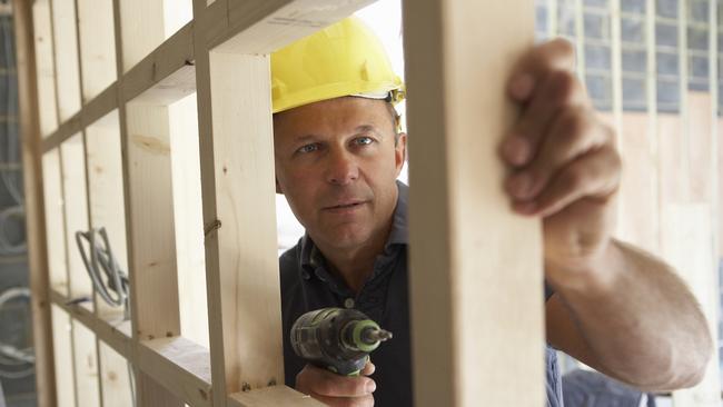
[[[522,115],[501,145],[513,169],[505,189],[515,211],[544,217],[548,281],[574,284],[588,277],[580,271],[592,270],[611,241],[621,178],[614,131],[577,80],[565,40],[526,54],[508,89]]]

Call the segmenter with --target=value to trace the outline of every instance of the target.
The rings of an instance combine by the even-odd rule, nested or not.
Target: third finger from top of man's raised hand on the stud
[[[588,108],[566,109],[555,118],[534,161],[512,175],[505,188],[515,199],[535,199],[562,167],[612,142],[613,130]]]

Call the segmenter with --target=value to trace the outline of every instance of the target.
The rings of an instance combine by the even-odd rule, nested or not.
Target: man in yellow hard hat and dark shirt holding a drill
[[[547,343],[644,390],[692,386],[712,353],[705,319],[668,266],[612,238],[621,159],[573,63],[563,40],[524,56],[508,86],[522,116],[499,146],[512,208],[543,219]],[[330,406],[410,406],[407,187],[396,181],[407,135],[393,107],[404,86],[355,18],[274,53],[271,76],[277,190],[306,228],[279,259],[286,384]],[[290,349],[296,318],[323,307],[357,308],[394,332],[361,376]],[[549,406],[562,400],[555,365],[548,346]]]

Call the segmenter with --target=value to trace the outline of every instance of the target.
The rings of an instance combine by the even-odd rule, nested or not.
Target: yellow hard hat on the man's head
[[[379,39],[350,17],[271,53],[274,112],[339,98],[404,99]]]

